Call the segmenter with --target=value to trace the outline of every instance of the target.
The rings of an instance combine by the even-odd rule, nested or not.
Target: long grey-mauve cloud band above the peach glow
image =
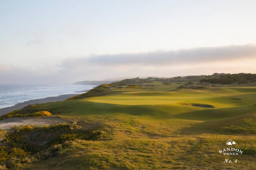
[[[256,45],[202,47],[177,51],[94,55],[83,60],[95,65],[176,65],[256,58]],[[82,61],[79,59],[80,62]]]

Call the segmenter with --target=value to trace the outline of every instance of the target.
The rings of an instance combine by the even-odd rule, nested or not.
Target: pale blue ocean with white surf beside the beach
[[[95,85],[75,84],[0,84],[0,109],[28,100],[64,94],[81,94]]]

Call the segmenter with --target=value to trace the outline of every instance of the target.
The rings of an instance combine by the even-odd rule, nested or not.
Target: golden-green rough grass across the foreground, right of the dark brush
[[[72,118],[71,118],[72,119]],[[107,118],[106,118],[107,119]],[[81,126],[102,127],[106,135],[100,141],[74,140],[58,156],[41,163],[26,165],[26,169],[93,170],[148,170],[148,169],[255,169],[255,136],[243,133],[197,134],[186,131],[193,123],[163,123],[132,121],[130,119],[107,119],[101,117],[79,118]],[[216,122],[216,126],[217,126]],[[194,129],[195,130],[195,129]],[[197,130],[197,131],[200,131]],[[201,130],[203,132],[203,130]],[[109,136],[107,136],[109,135]],[[219,149],[225,148],[228,139],[244,149],[239,156],[223,156]],[[225,158],[238,159],[237,164],[223,164]]]

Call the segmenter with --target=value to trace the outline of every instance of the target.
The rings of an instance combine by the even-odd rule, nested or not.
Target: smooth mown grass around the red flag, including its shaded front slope
[[[213,121],[255,112],[256,93],[251,87],[242,88],[244,91],[251,91],[249,93],[237,91],[236,88],[194,90],[176,89],[173,85],[161,85],[160,82],[154,82],[154,85],[151,89],[111,89],[110,94],[100,97],[48,103],[37,107],[49,109],[63,116],[128,114],[147,116],[148,119],[165,119],[164,121],[173,121],[178,115],[182,115],[185,120],[187,115],[187,119],[190,120],[198,114],[202,114],[198,117],[199,120],[204,118],[204,121]],[[207,105],[212,108],[208,108]]]

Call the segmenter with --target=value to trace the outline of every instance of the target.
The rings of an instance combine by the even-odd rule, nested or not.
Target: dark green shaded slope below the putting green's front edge
[[[156,119],[170,118],[171,105],[116,105],[100,102],[68,100],[46,104],[29,105],[20,112],[35,112],[45,109],[65,116],[100,116],[104,114],[130,114],[133,116],[152,116]]]

